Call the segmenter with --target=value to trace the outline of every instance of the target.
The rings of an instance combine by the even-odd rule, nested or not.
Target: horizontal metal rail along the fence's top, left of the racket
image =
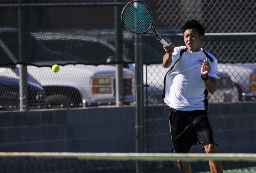
[[[74,2],[74,3],[33,3],[33,4],[0,4],[2,7],[60,7],[60,6],[124,6],[128,2]]]

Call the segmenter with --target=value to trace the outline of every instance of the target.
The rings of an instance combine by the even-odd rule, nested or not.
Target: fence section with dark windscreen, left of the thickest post
[[[123,40],[116,39],[115,21],[122,24],[120,14],[115,20],[114,3],[119,11],[126,4],[1,1],[1,110],[134,105],[134,68],[128,64],[133,62],[132,34],[124,34],[124,57],[120,52],[118,59],[115,43],[121,41],[122,48]],[[122,38],[122,29],[120,33]],[[54,64],[60,72],[52,72]],[[21,72],[28,87],[19,87]],[[10,89],[5,93],[4,88]],[[27,93],[21,92],[26,88]],[[24,93],[22,99],[19,93]]]

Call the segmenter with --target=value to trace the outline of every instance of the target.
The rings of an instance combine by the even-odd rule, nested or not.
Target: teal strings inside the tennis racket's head
[[[134,3],[124,11],[123,22],[128,30],[143,33],[150,28],[152,16],[143,4]]]

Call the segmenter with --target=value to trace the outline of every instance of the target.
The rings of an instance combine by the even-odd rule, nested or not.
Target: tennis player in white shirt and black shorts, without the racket
[[[164,79],[163,101],[170,107],[169,123],[175,153],[188,153],[199,141],[206,153],[217,153],[208,113],[208,92],[216,91],[217,60],[201,48],[204,27],[191,19],[180,26],[186,46],[164,46],[163,67],[171,68]],[[220,161],[209,161],[212,173],[222,173]],[[179,161],[182,173],[191,173],[188,162]]]

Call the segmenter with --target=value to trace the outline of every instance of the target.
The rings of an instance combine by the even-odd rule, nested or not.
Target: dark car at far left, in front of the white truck
[[[0,77],[0,111],[20,110],[20,82]],[[46,95],[42,86],[28,82],[28,109],[44,109]]]

